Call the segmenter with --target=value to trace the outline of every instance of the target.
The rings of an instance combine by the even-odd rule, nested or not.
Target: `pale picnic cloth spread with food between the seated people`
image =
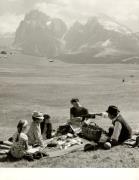
[[[71,152],[83,150],[87,143],[90,143],[90,141],[68,133],[66,135],[45,140],[44,147],[30,147],[27,152],[34,154],[39,151],[46,154],[48,157],[58,157]],[[0,148],[0,155],[7,154],[8,152],[9,149],[4,149],[4,147],[2,147],[2,149]]]

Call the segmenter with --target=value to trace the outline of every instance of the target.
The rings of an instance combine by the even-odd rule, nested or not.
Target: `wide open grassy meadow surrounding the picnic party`
[[[78,65],[20,54],[1,58],[0,138],[12,135],[19,119],[31,122],[34,110],[49,113],[54,128],[66,122],[72,97],[94,113],[117,105],[131,127],[139,130],[138,89],[135,64]],[[108,119],[95,121],[105,129],[111,125]],[[0,162],[0,167],[139,167],[139,155],[137,149],[119,146],[34,162]]]

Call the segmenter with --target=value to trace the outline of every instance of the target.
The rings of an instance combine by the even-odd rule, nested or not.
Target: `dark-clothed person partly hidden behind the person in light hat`
[[[44,119],[40,124],[41,127],[41,134],[43,139],[50,139],[52,137],[52,124],[50,121],[50,115],[44,114]]]

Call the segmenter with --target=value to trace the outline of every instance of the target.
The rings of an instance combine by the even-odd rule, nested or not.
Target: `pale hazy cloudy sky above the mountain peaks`
[[[0,0],[0,33],[14,32],[31,9],[61,17],[67,24],[104,13],[139,31],[139,0]]]

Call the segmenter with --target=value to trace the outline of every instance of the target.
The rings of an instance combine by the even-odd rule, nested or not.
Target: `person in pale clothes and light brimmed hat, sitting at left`
[[[33,112],[32,123],[28,130],[28,143],[32,146],[43,146],[43,138],[41,135],[40,123],[43,121],[44,117],[41,112]]]

